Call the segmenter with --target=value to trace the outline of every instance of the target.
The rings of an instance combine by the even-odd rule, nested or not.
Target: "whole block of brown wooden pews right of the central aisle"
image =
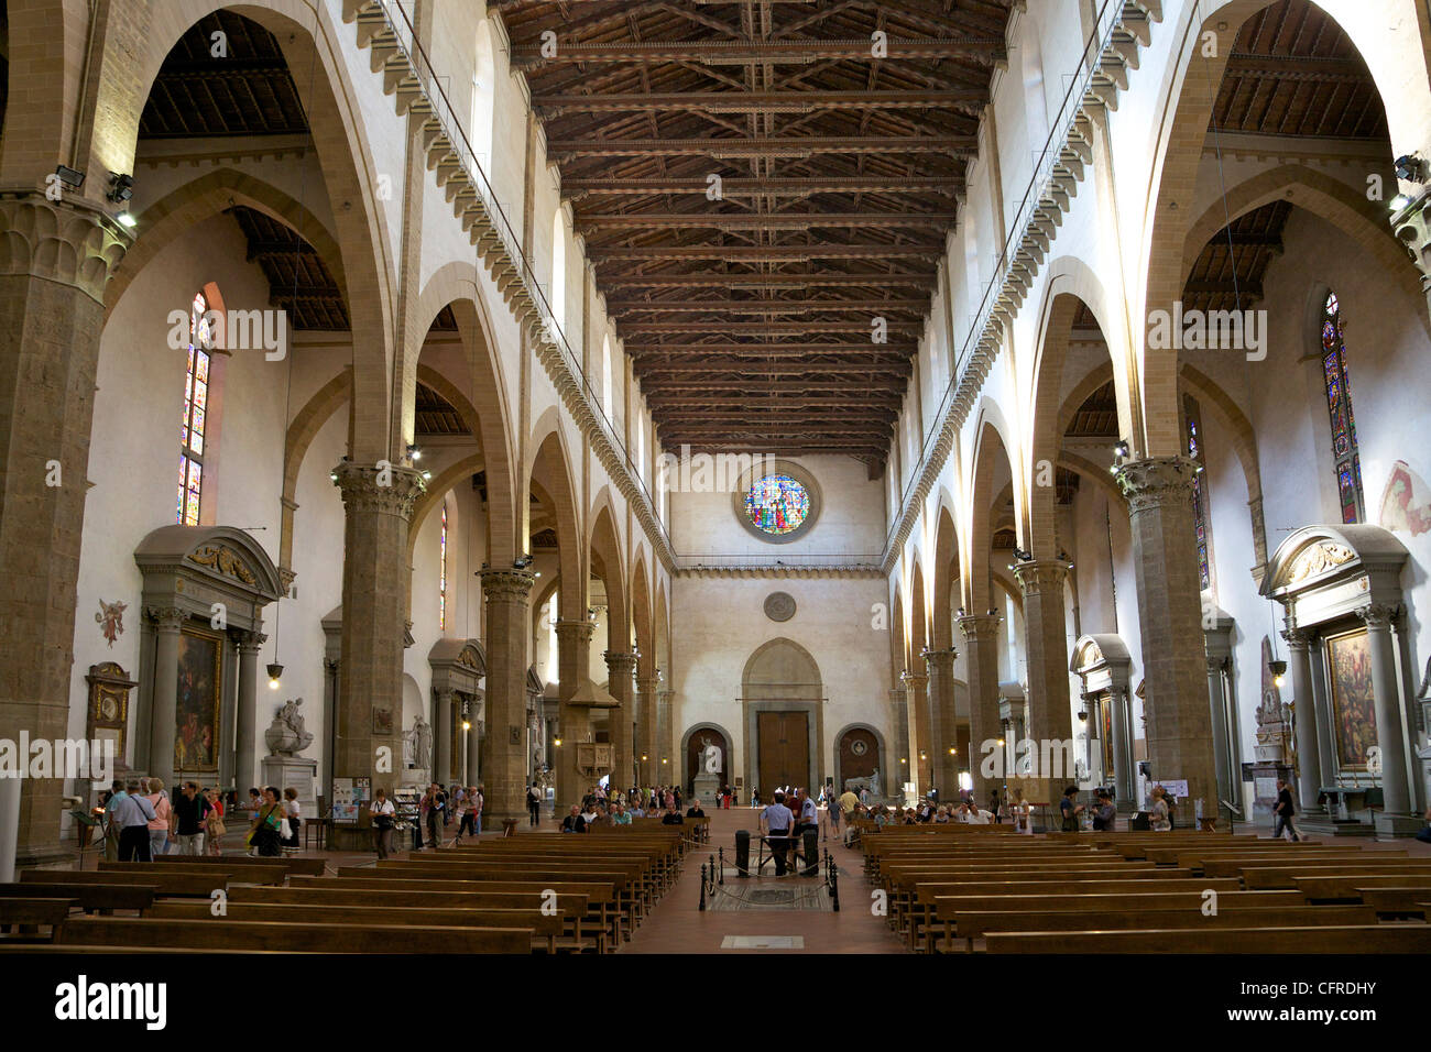
[[[1226,833],[1000,836],[886,826],[866,873],[912,949],[989,953],[1431,950],[1431,859]]]

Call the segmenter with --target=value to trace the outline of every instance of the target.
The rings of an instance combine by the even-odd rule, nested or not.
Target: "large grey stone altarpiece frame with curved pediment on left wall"
[[[133,764],[167,786],[195,777],[243,789],[258,777],[263,607],[285,588],[268,552],[236,527],[166,525],[135,548],[143,575]],[[218,721],[212,763],[177,769],[180,638],[213,640]]]

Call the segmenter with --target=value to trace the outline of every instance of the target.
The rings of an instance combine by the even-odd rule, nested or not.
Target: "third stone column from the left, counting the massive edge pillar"
[[[527,570],[482,570],[487,600],[487,754],[482,779],[487,813],[499,819],[527,816],[527,635],[528,603],[535,577]]]

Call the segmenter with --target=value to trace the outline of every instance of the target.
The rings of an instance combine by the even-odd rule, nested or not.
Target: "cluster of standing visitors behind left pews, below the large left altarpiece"
[[[170,799],[160,779],[114,781],[93,813],[103,827],[104,856],[119,862],[153,862],[175,854],[220,854],[225,833],[218,789],[185,781]]]

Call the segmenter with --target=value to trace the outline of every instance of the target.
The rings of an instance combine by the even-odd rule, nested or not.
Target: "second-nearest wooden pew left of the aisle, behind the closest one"
[[[207,920],[209,906],[202,902],[160,902],[155,917],[179,920]],[[394,927],[529,927],[535,946],[547,953],[557,952],[565,935],[560,915],[545,915],[541,909],[426,909],[421,906],[298,906],[280,903],[233,903],[223,920],[276,920],[298,925],[359,925]],[[568,943],[568,949],[571,949]]]

